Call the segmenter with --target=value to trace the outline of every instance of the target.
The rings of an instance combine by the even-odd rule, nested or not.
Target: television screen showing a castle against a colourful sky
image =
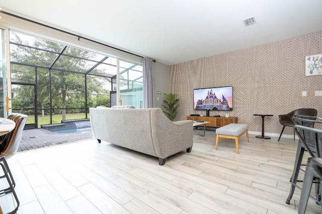
[[[232,110],[232,87],[194,89],[195,110]]]

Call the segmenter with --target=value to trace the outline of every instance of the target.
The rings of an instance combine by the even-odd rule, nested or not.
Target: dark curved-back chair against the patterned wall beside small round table
[[[280,137],[278,138],[278,141],[280,141],[281,136],[282,136],[286,126],[293,127],[295,125],[293,120],[292,120],[294,115],[303,115],[303,116],[316,117],[317,110],[316,109],[297,109],[297,110],[294,110],[294,111],[292,111],[292,112],[290,112],[290,113],[288,113],[286,115],[279,115],[278,118],[279,118],[280,124],[283,125],[283,128],[282,128],[282,132],[280,134]],[[295,133],[294,133],[294,140],[295,140]]]

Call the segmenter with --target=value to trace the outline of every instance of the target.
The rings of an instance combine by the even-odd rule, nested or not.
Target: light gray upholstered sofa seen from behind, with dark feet
[[[94,138],[158,157],[167,158],[193,146],[192,121],[171,122],[160,108],[90,108]]]

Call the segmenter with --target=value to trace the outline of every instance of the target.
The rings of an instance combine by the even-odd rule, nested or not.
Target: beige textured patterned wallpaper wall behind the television
[[[261,132],[262,118],[253,114],[272,114],[265,118],[266,133],[280,133],[278,115],[299,108],[314,108],[322,117],[322,75],[305,76],[305,56],[322,54],[322,32],[302,35],[274,43],[227,52],[170,66],[170,92],[180,98],[176,120],[187,115],[205,115],[193,110],[193,89],[233,86],[233,111],[238,123],[249,124],[250,131]],[[307,96],[301,96],[307,91]],[[224,111],[212,111],[210,116]],[[291,128],[284,133],[293,135]]]

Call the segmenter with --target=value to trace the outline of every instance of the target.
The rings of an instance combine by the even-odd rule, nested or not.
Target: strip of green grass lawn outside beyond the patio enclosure
[[[85,113],[75,113],[75,114],[66,114],[66,120],[76,120],[76,119],[85,119]],[[90,117],[90,114],[88,114]],[[28,115],[27,124],[34,124],[35,117],[34,115]],[[38,128],[40,128],[40,123],[42,125],[50,124],[50,116],[45,116],[42,118],[38,116]],[[52,124],[60,124],[61,123],[61,115],[53,115],[52,116]]]

